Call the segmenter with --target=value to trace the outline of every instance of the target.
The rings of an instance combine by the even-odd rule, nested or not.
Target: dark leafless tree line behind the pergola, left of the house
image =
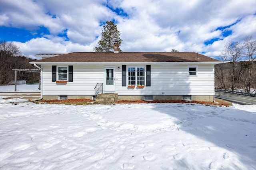
[[[31,58],[22,56],[19,47],[12,42],[0,41],[0,85],[14,80],[13,69],[35,69]],[[27,83],[39,82],[40,73],[17,71],[17,79]]]

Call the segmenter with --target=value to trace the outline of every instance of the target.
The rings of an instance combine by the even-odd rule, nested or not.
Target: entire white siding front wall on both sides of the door
[[[146,67],[141,63],[126,65]],[[198,66],[196,77],[187,76],[188,65]],[[96,84],[104,83],[104,66],[108,65],[73,64],[73,82],[56,84],[52,82],[52,66],[42,65],[42,95],[93,96]],[[122,87],[122,64],[116,64],[115,71],[116,92],[113,93],[118,95],[214,95],[214,64],[151,64],[151,86],[139,89]]]

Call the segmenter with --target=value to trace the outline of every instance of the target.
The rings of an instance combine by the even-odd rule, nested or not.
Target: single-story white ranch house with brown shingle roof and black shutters
[[[42,98],[92,99],[114,93],[117,100],[214,102],[214,64],[220,61],[195,52],[117,49],[56,54],[30,62],[41,69]]]

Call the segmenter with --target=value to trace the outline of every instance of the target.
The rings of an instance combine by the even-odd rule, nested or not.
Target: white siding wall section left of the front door
[[[65,66],[61,64],[61,66]],[[42,66],[43,95],[63,95],[63,96],[94,96],[94,88],[97,83],[104,81],[104,67],[102,66],[82,66],[73,65],[73,82],[67,84],[52,82],[52,66]],[[58,76],[58,75],[57,75]]]

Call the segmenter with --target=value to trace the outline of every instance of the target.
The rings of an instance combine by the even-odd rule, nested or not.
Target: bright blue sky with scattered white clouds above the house
[[[115,21],[122,51],[195,51],[218,57],[256,38],[255,0],[0,0],[0,40],[24,55],[93,51]]]

